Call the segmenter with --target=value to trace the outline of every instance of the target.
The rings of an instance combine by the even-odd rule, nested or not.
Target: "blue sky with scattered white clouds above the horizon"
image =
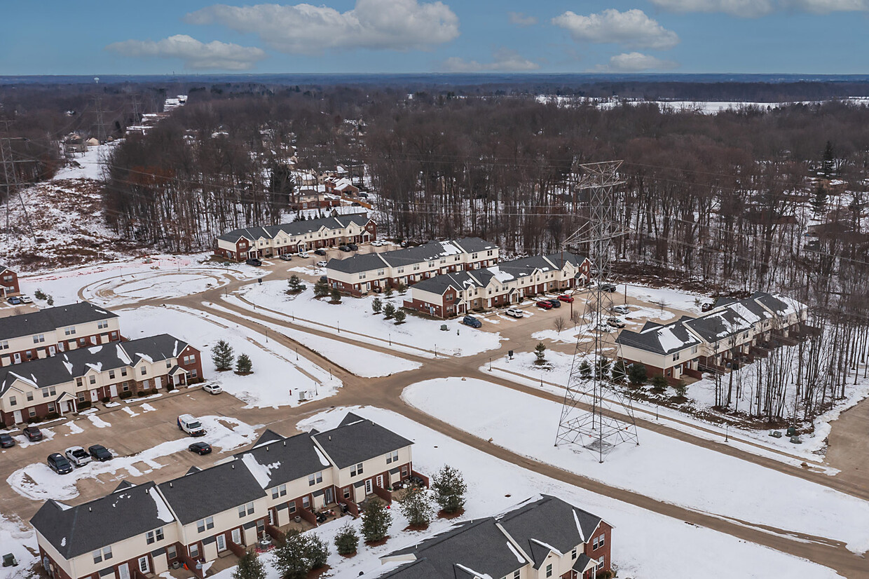
[[[869,73],[869,0],[3,2],[0,75]]]

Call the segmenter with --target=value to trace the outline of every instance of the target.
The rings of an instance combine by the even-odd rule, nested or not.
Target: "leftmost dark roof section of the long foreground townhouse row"
[[[155,484],[145,482],[119,487],[110,495],[75,507],[50,500],[36,511],[30,524],[70,559],[174,520]]]

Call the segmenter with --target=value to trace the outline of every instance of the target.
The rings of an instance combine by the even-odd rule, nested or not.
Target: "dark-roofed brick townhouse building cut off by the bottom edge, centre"
[[[543,495],[381,556],[400,566],[380,577],[592,579],[611,569],[612,531],[600,516]]]

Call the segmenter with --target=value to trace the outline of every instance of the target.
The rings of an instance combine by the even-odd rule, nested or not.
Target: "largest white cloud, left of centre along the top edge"
[[[426,50],[459,36],[459,18],[448,5],[417,0],[357,0],[355,8],[346,12],[307,3],[215,4],[188,14],[185,20],[255,34],[275,50],[290,54],[351,48]]]

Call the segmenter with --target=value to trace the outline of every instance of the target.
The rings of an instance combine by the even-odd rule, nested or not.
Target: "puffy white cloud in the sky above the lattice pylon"
[[[570,10],[552,19],[556,26],[570,32],[578,42],[617,43],[630,49],[667,50],[679,43],[673,30],[667,30],[642,10],[620,12],[612,8],[600,14],[580,16]]]

